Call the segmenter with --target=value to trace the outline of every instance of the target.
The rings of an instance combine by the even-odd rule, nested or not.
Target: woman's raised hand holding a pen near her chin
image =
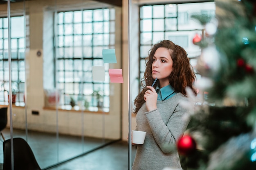
[[[157,92],[154,87],[147,86],[148,90],[144,94],[146,108],[148,111],[157,109]]]

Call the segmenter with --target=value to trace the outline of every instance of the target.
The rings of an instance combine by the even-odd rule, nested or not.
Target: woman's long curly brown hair
[[[154,81],[152,77],[153,56],[157,48],[160,47],[167,48],[170,51],[171,59],[173,60],[173,68],[169,76],[169,83],[174,88],[175,92],[181,92],[186,96],[185,89],[186,87],[190,87],[193,93],[197,95],[196,89],[193,86],[196,76],[193,71],[192,65],[189,62],[188,54],[186,53],[184,48],[174,44],[172,41],[162,40],[155,44],[153,48],[149,50],[148,57],[146,57],[145,59],[146,70],[144,72],[144,77],[141,78],[141,85],[143,88],[134,101],[135,108],[133,110],[133,113],[135,114],[139,111],[139,109],[145,102],[143,96],[148,90],[146,86],[152,85]],[[158,81],[159,80],[157,80],[154,87],[156,87]]]

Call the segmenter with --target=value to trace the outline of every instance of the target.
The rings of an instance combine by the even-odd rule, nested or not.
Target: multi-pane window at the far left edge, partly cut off
[[[11,17],[11,78],[16,89],[16,105],[24,106],[25,91],[25,17]],[[8,105],[8,19],[0,18],[0,103]],[[13,93],[14,94],[14,91]]]

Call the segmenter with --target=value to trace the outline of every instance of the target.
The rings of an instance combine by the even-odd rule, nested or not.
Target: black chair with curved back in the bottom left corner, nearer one
[[[11,139],[3,142],[3,170],[11,170]],[[41,170],[29,144],[22,138],[13,138],[13,157],[15,170]]]

